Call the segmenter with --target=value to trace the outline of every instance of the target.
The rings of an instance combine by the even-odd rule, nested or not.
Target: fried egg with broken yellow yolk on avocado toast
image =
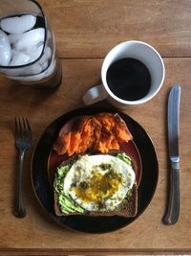
[[[65,176],[63,191],[87,211],[112,211],[135,180],[132,166],[116,156],[83,155]]]

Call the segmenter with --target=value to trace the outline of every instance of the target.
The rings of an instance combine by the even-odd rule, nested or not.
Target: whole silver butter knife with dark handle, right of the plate
[[[171,164],[169,179],[169,198],[163,222],[175,224],[180,216],[180,85],[176,84],[170,91],[168,99],[168,147]]]

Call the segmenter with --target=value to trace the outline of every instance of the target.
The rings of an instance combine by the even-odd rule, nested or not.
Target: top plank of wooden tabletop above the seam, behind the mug
[[[162,57],[191,57],[189,0],[40,0],[60,58],[102,58],[125,40],[152,44]]]

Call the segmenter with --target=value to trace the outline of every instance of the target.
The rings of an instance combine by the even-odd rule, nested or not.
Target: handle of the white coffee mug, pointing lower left
[[[85,105],[93,105],[97,102],[106,100],[108,93],[104,89],[102,84],[96,85],[95,87],[90,88],[83,95],[83,102]]]

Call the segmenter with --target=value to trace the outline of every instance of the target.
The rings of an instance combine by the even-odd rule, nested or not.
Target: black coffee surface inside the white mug
[[[106,80],[110,90],[125,101],[143,98],[151,86],[148,68],[136,58],[120,58],[112,63],[107,71]]]

